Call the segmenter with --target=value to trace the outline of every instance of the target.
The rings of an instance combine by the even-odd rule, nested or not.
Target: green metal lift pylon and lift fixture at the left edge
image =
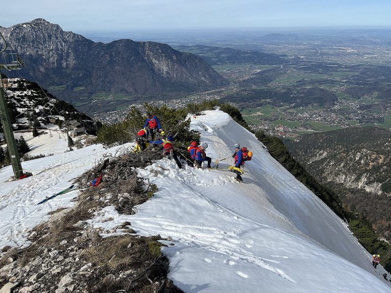
[[[12,169],[14,170],[15,179],[19,179],[23,174],[22,165],[20,163],[20,156],[16,146],[14,132],[8,114],[8,107],[5,100],[5,83],[2,78],[2,69],[15,70],[24,67],[23,62],[18,54],[12,49],[8,48],[7,42],[0,33],[0,116],[2,119],[4,135],[8,144],[8,152],[11,158]]]

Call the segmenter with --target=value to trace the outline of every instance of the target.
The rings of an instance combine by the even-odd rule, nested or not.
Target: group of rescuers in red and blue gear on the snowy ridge
[[[157,138],[157,134],[160,134],[160,139],[155,140]],[[144,151],[149,144],[157,145],[160,144],[163,147],[163,156],[172,157],[177,163],[179,168],[182,168],[182,163],[179,160],[180,154],[178,154],[174,149],[174,137],[171,132],[164,132],[161,128],[161,124],[156,115],[151,113],[147,113],[147,121],[144,124],[144,129],[140,130],[137,133],[136,138],[136,148],[135,152]],[[190,161],[191,166],[201,168],[203,162],[207,162],[207,167],[212,168],[211,162],[212,159],[208,157],[205,153],[205,150],[208,148],[208,144],[206,142],[202,142],[198,144],[197,141],[192,141],[187,148],[190,153]],[[235,153],[232,156],[235,159],[235,166],[231,166],[230,171],[234,171],[236,175],[236,179],[238,181],[243,181],[241,174],[243,171],[240,169],[243,167],[244,162],[251,159],[252,153],[247,150],[247,148],[240,149],[240,145],[236,143],[234,145]]]

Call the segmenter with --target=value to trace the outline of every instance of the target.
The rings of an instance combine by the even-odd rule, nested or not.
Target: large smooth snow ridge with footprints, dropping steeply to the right
[[[180,170],[160,160],[139,170],[159,191],[135,215],[106,207],[90,224],[110,229],[129,221],[140,235],[172,237],[163,252],[169,277],[185,292],[391,292],[385,271],[374,270],[343,222],[252,133],[217,110],[191,127],[213,160],[229,158],[221,170]],[[236,142],[254,153],[244,183],[225,170]]]

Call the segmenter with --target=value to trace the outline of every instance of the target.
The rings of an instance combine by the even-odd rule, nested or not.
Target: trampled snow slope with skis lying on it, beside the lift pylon
[[[62,141],[58,143],[61,147]],[[42,145],[37,148],[43,149]],[[11,166],[0,169],[0,250],[6,245],[26,245],[26,236],[41,221],[49,219],[49,212],[73,206],[70,200],[77,196],[77,190],[38,206],[35,203],[69,187],[73,179],[91,169],[102,155],[114,155],[121,148],[124,146],[106,150],[101,144],[91,145],[73,152],[22,162],[23,170],[32,172],[34,176],[18,181],[7,181],[13,175]]]

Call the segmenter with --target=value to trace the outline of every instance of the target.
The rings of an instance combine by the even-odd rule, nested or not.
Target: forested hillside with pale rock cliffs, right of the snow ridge
[[[390,240],[391,131],[355,127],[303,135],[287,145],[300,164],[337,192],[346,208],[367,217]]]

